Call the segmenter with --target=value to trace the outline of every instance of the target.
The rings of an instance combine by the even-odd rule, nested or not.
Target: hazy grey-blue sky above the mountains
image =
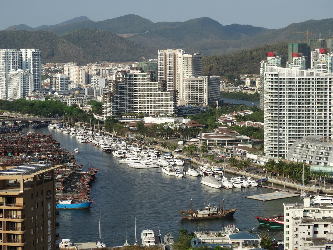
[[[102,21],[137,14],[153,22],[210,17],[222,25],[271,29],[332,18],[332,0],[0,0],[0,30],[11,25],[52,25],[78,16]]]

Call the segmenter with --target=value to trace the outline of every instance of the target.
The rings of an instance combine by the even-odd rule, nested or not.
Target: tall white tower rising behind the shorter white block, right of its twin
[[[42,59],[41,51],[39,49],[21,49],[22,52],[22,68],[23,70],[30,70],[34,75],[34,90],[42,89]]]

